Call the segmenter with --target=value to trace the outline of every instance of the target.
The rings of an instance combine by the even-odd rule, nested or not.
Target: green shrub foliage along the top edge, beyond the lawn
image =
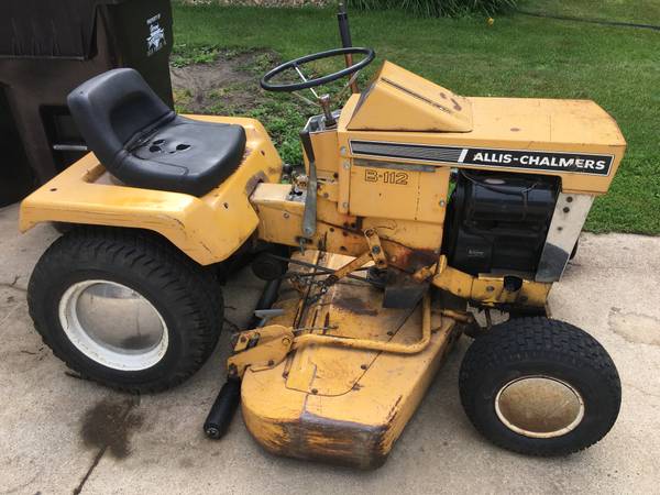
[[[470,13],[492,15],[516,7],[516,3],[517,0],[348,0],[348,4],[355,9],[399,9],[428,18]]]

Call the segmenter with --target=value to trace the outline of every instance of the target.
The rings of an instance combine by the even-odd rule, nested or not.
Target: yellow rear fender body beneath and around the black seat
[[[206,196],[112,184],[89,153],[23,200],[21,231],[44,221],[140,228],[163,234],[199,264],[229,257],[260,222],[250,194],[260,180],[279,179],[282,160],[256,120],[190,117],[240,124],[248,138],[241,166]]]

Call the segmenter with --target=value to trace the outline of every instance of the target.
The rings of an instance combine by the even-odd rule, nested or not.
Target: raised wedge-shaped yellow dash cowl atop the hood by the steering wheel
[[[362,92],[349,131],[470,132],[472,103],[385,62]]]

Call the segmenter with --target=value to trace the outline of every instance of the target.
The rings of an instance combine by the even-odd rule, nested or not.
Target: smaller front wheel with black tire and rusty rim
[[[542,317],[509,320],[476,339],[459,387],[484,437],[530,455],[565,455],[597,442],[622,399],[605,349],[579,328]]]

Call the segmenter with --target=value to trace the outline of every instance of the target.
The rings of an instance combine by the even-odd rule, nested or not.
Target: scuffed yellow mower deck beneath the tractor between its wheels
[[[337,268],[346,260],[326,255],[320,264]],[[271,321],[328,336],[418,342],[421,305],[385,309],[382,298],[381,290],[344,279],[305,309],[300,299],[283,297],[275,307],[285,315]],[[459,336],[454,323],[431,315],[431,340],[418,354],[311,344],[275,367],[248,370],[242,383],[248,429],[276,454],[361,469],[383,464]]]

